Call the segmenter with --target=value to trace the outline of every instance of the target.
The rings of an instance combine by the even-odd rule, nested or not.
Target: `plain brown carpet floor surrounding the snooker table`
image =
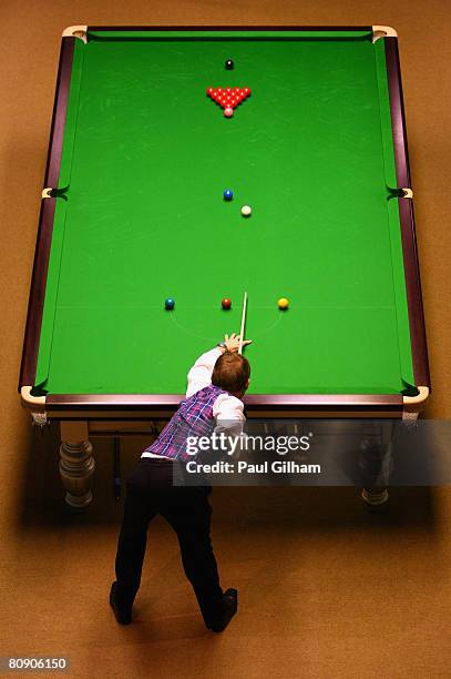
[[[217,489],[222,580],[240,592],[229,629],[204,630],[175,537],[160,520],[136,621],[120,628],[107,607],[121,517],[111,444],[95,440],[95,498],[71,515],[58,432],[32,432],[16,393],[62,29],[381,23],[400,33],[433,381],[428,415],[450,418],[450,9],[448,0],[3,0],[0,656],[64,655],[72,677],[451,677],[449,488],[393,489],[382,514],[366,510],[352,488]],[[124,466],[143,443],[125,442]]]

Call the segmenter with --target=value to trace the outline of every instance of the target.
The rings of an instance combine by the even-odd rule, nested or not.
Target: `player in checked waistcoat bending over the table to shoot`
[[[115,561],[116,581],[110,604],[117,622],[132,621],[132,605],[141,581],[146,533],[151,519],[162,515],[177,534],[182,561],[208,629],[223,631],[237,611],[237,590],[223,592],[209,529],[209,486],[174,486],[174,460],[188,460],[189,436],[214,429],[243,432],[243,395],[249,384],[250,366],[238,353],[239,335],[225,336],[216,348],[203,354],[188,373],[186,398],[160,434],[144,450],[127,478],[124,519]],[[243,346],[250,341],[243,341]],[[185,434],[181,435],[184,430]]]

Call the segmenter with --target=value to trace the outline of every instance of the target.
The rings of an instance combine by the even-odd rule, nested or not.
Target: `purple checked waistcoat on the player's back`
[[[211,384],[199,389],[189,398],[182,401],[178,411],[164,427],[158,438],[144,453],[162,455],[187,462],[194,455],[186,453],[186,439],[189,436],[209,436],[214,429],[213,404],[224,389]]]

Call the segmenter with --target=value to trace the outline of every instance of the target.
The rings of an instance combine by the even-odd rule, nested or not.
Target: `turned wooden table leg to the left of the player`
[[[91,477],[95,469],[88,423],[62,422],[60,446],[60,475],[65,488],[65,501],[83,508],[92,500]]]

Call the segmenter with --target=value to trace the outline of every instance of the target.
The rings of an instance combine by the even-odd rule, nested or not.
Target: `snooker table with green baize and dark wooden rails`
[[[250,94],[227,118],[208,88]],[[248,416],[418,416],[396,31],[68,28],[19,388],[35,423],[61,424],[70,504],[91,499],[90,437],[170,417],[195,358],[238,332],[244,292]]]

